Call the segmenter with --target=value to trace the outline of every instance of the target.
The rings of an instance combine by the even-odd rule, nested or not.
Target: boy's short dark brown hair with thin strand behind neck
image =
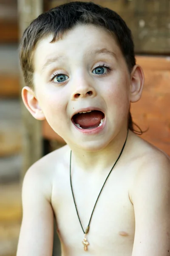
[[[23,33],[20,42],[20,64],[27,86],[33,86],[34,50],[38,42],[52,34],[53,39],[62,35],[77,24],[94,24],[112,32],[125,58],[129,72],[136,64],[134,44],[130,29],[125,21],[114,11],[92,2],[71,2],[57,6],[39,15],[31,22]],[[128,128],[133,129],[132,117],[129,111]]]

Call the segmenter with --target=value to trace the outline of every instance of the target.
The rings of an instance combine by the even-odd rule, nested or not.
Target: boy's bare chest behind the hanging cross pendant
[[[85,180],[77,185],[75,179],[73,192],[77,210],[71,192],[69,175],[63,178],[56,187],[54,186],[52,196],[57,232],[62,244],[62,255],[109,256],[113,253],[115,256],[131,255],[135,220],[133,205],[129,199],[130,180],[128,177],[120,179],[119,175],[111,175],[98,200],[97,197],[105,180],[97,179],[96,182]],[[83,230],[86,230],[89,221],[90,229],[86,236],[89,245],[88,250],[84,251]]]

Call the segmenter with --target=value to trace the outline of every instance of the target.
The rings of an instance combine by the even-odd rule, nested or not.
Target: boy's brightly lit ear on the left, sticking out
[[[31,113],[32,116],[34,116],[37,120],[44,120],[45,116],[44,113],[39,105],[39,102],[35,96],[34,91],[28,87],[25,86],[22,89],[22,99],[24,102],[24,105],[28,109],[28,111]]]

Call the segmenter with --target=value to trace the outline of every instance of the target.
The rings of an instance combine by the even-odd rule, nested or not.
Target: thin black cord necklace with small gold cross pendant
[[[128,130],[127,130],[127,136],[128,136]],[[122,155],[123,149],[125,148],[125,144],[126,144],[126,141],[127,141],[127,136],[126,136],[125,143],[124,143],[124,145],[123,145],[123,147],[122,147],[122,150],[121,150],[121,152],[120,152],[120,154],[119,154],[119,157],[117,158],[116,162],[114,163],[114,165],[113,165],[111,171],[113,170],[114,166],[116,165],[117,161],[119,160],[119,158],[120,158],[121,155]],[[106,177],[106,180],[108,179],[109,175],[111,174],[111,171],[109,172],[108,176]],[[104,182],[104,184],[103,184],[103,186],[102,186],[102,189],[103,189],[103,187],[105,186],[106,180],[105,180],[105,182]],[[70,152],[70,184],[71,184],[71,192],[72,192],[72,195],[73,195],[74,204],[75,204],[76,211],[77,211],[77,205],[76,205],[76,201],[75,201],[75,198],[74,198],[73,187],[72,187],[72,182],[71,182],[71,152]],[[101,189],[100,192],[99,192],[99,195],[98,195],[98,197],[97,197],[97,200],[96,200],[96,203],[95,203],[95,205],[94,205],[94,208],[95,208],[95,206],[96,206],[96,204],[97,204],[97,201],[98,201],[99,196],[100,196],[100,194],[101,194],[101,192],[102,192],[102,189]],[[93,215],[93,212],[94,212],[94,208],[93,208],[93,211],[92,211],[92,213],[91,213],[91,218],[92,218],[92,215]],[[79,213],[78,213],[78,211],[77,211],[77,216],[78,216],[78,218],[79,218]],[[87,228],[86,228],[85,231],[84,231],[84,229],[83,229],[83,227],[82,227],[82,223],[81,223],[80,218],[79,218],[79,223],[80,223],[80,225],[81,225],[81,227],[82,227],[82,231],[83,231],[83,233],[84,233],[84,235],[85,235],[84,240],[82,241],[82,244],[84,245],[84,250],[85,250],[85,251],[88,249],[88,245],[89,245],[89,243],[88,243],[88,241],[87,241],[87,239],[86,239],[86,234],[88,233],[89,228],[90,228],[91,218],[90,218],[90,221],[89,221],[88,226],[87,226]]]

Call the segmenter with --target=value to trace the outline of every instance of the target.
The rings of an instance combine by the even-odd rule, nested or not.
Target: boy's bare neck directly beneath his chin
[[[85,151],[81,148],[70,147],[72,150],[71,165],[83,172],[100,172],[108,170],[116,162],[127,137],[127,130],[119,133],[103,149]]]

